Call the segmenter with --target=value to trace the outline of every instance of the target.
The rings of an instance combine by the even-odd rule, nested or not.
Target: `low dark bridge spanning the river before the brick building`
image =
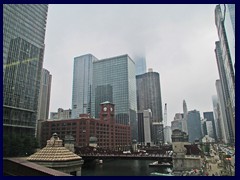
[[[94,159],[144,159],[144,160],[158,160],[161,162],[172,161],[172,156],[166,154],[78,154],[83,160]]]

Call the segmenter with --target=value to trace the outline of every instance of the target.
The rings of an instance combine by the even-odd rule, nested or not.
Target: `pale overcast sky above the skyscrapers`
[[[219,79],[214,4],[50,4],[43,67],[52,74],[50,112],[72,103],[74,57],[128,54],[160,74],[167,121],[188,110],[213,111]]]

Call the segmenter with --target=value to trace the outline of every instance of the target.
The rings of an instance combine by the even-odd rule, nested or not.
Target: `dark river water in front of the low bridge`
[[[86,163],[82,176],[150,176],[152,172],[167,173],[169,168],[149,167],[154,160],[104,160],[103,164]]]

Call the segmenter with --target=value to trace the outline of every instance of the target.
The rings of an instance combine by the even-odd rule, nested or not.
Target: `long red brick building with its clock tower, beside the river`
[[[41,146],[57,133],[61,139],[72,135],[75,146],[89,146],[90,137],[97,138],[101,148],[123,150],[131,145],[130,125],[117,124],[114,116],[114,104],[106,101],[100,104],[100,118],[94,119],[81,114],[77,119],[46,120],[41,123]]]

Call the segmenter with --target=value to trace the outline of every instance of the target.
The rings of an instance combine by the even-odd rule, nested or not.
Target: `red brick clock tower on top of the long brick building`
[[[100,104],[100,120],[114,121],[114,104],[109,101],[105,101]]]

